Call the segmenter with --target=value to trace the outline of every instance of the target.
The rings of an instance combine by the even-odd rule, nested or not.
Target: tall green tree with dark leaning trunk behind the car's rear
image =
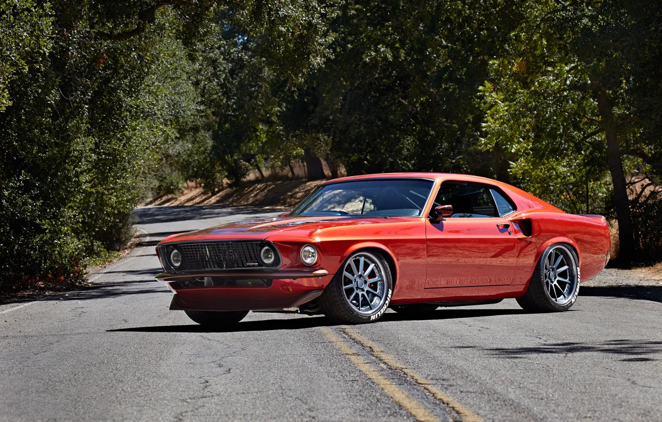
[[[650,130],[659,116],[635,110],[651,105],[643,87],[659,92],[659,81],[647,72],[662,63],[661,5],[528,1],[524,9],[527,18],[511,32],[506,54],[491,62],[483,88],[483,146],[510,151],[513,171],[525,185],[562,187],[565,200],[559,202],[570,210],[577,210],[572,204],[581,203],[579,192],[587,186],[605,194],[608,171],[620,262],[627,267],[636,245],[626,178],[633,172],[656,177],[660,157],[659,137]],[[540,179],[539,169],[551,170],[552,180]]]

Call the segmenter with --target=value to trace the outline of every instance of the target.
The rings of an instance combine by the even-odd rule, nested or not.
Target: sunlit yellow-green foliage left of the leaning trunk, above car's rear
[[[601,212],[609,187],[604,134],[595,101],[567,89],[582,77],[567,67],[534,70],[530,62],[491,62],[498,85],[486,82],[481,89],[486,134],[481,146],[501,148],[512,160],[511,176],[524,189],[567,212]]]

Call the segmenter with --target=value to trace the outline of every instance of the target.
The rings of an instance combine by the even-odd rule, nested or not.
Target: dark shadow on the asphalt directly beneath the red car
[[[472,318],[486,316],[502,316],[526,314],[521,309],[466,309],[466,310],[437,310],[428,314],[397,314],[389,312],[379,319],[379,323],[393,321],[423,321],[434,319],[456,319]],[[273,331],[273,330],[291,330],[307,329],[314,327],[332,327],[337,325],[324,316],[300,317],[291,319],[263,319],[261,321],[243,321],[237,325],[224,327],[221,329],[203,327],[202,325],[153,325],[149,327],[129,327],[119,329],[109,329],[106,331],[133,331],[142,333],[213,333],[213,332],[244,332],[244,331]]]

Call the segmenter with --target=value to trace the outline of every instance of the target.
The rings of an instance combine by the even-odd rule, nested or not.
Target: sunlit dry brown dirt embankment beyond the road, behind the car
[[[293,208],[299,204],[319,181],[271,181],[244,183],[239,187],[226,187],[216,194],[203,192],[201,187],[189,185],[183,193],[154,198],[144,205],[223,205],[223,206],[270,206]]]

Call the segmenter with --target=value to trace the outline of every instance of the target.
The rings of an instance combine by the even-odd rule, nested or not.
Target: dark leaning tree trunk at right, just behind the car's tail
[[[618,261],[620,267],[628,268],[632,266],[634,258],[634,230],[625,171],[618,146],[618,128],[614,121],[612,105],[604,88],[600,87],[599,83],[591,82],[591,89],[598,101],[598,111],[607,138],[607,161],[614,184],[614,205],[616,206],[616,220],[618,220]]]

